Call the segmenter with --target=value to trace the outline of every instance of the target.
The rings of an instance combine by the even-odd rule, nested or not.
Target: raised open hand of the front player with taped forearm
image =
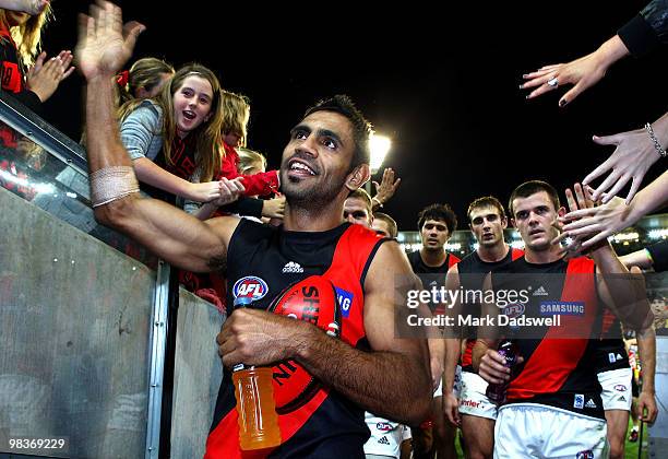
[[[145,27],[139,22],[122,25],[121,9],[98,0],[91,15],[79,15],[79,43],[74,56],[81,73],[91,81],[111,78],[132,56],[136,38]]]

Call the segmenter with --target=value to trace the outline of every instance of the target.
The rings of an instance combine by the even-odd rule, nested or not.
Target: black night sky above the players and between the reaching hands
[[[126,20],[147,26],[133,60],[196,60],[215,70],[225,89],[251,98],[249,146],[272,167],[308,106],[349,94],[377,131],[393,139],[384,165],[403,181],[385,211],[405,231],[415,229],[417,213],[432,202],[450,203],[462,228],[477,197],[491,193],[505,203],[516,185],[533,178],[563,189],[612,152],[595,145],[593,133],[636,129],[666,111],[668,48],[618,62],[563,109],[557,93],[525,101],[517,89],[522,73],[595,50],[646,1],[487,3],[232,9],[119,2]],[[45,34],[49,55],[73,49],[75,14],[87,4],[53,2],[57,21]],[[73,75],[47,102],[46,118],[74,139],[81,87]]]

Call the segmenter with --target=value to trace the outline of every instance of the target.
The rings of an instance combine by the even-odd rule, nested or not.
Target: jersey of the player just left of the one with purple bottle
[[[460,285],[464,289],[464,291],[478,291],[482,290],[482,284],[485,282],[485,278],[488,273],[494,272],[498,268],[510,263],[521,257],[524,256],[524,251],[510,248],[505,257],[499,261],[484,261],[478,251],[474,251],[468,256],[464,257],[462,261],[456,263],[457,272],[460,273]],[[480,305],[478,303],[466,303],[466,310],[462,310],[462,314],[473,315],[475,317],[480,316]],[[466,333],[466,350],[462,355],[460,361],[460,365],[462,366],[463,372],[472,372],[473,373],[473,348],[476,344],[476,330],[468,330]]]

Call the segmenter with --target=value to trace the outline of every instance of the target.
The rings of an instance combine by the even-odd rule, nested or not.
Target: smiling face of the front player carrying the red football
[[[288,202],[324,204],[347,195],[354,151],[353,126],[345,116],[315,111],[302,119],[283,151],[281,188]]]

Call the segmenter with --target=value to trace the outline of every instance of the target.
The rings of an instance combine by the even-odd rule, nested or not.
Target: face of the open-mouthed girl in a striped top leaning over
[[[211,118],[213,89],[208,80],[190,75],[174,93],[174,116],[177,134],[183,139],[193,129]]]

